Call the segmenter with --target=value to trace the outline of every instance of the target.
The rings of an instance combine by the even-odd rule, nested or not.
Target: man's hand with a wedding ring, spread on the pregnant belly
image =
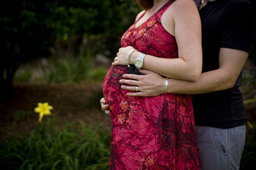
[[[164,81],[161,75],[154,71],[140,69],[139,70],[144,75],[133,75],[125,74],[119,82],[122,84],[128,84],[132,86],[122,85],[121,88],[124,90],[136,91],[136,86],[138,86],[138,92],[127,93],[129,96],[156,96],[164,93]]]

